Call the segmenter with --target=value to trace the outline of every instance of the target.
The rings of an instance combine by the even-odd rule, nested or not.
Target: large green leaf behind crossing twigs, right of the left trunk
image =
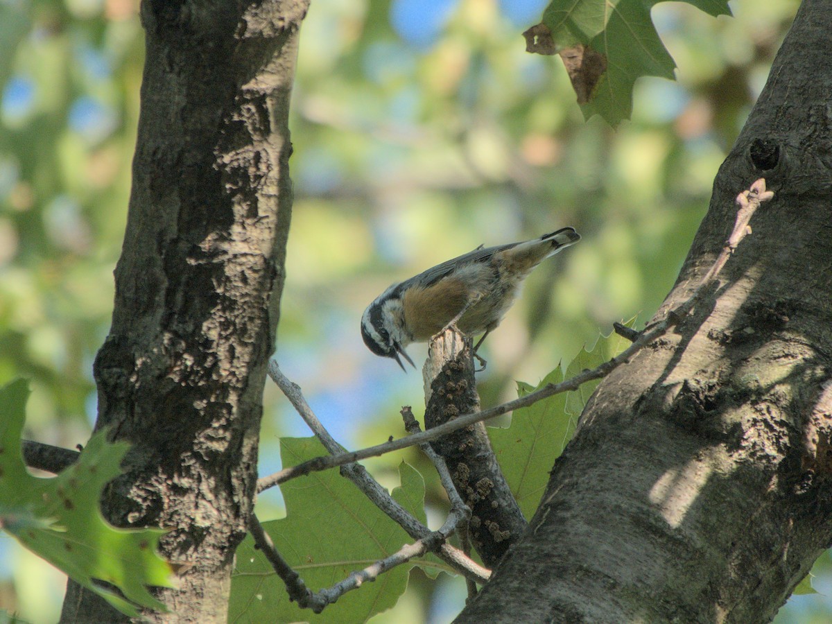
[[[283,465],[325,454],[315,438],[282,438]],[[399,465],[401,486],[395,498],[422,522],[424,482],[407,463]],[[263,522],[281,555],[313,592],[331,587],[371,563],[393,554],[413,539],[337,470],[312,473],[280,486],[286,518]],[[411,567],[446,570],[435,557],[423,557],[382,574],[375,582],[347,592],[319,615],[289,602],[285,586],[251,536],[237,549],[231,577],[229,622],[364,622],[393,607],[407,587]]]

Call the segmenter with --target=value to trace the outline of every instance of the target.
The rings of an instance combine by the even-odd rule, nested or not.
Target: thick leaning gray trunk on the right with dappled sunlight
[[[805,0],[661,310],[765,177],[675,331],[604,379],[530,530],[458,622],[768,622],[832,542],[832,12]]]

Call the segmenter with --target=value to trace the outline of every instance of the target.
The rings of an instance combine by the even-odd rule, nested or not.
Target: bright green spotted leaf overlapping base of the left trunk
[[[98,508],[106,483],[121,474],[128,445],[107,443],[98,432],[57,477],[32,477],[20,446],[28,394],[22,380],[0,389],[2,527],[126,615],[136,617],[136,605],[164,610],[147,586],[171,587],[171,568],[156,554],[165,532],[111,527]],[[123,597],[97,581],[118,587]]]

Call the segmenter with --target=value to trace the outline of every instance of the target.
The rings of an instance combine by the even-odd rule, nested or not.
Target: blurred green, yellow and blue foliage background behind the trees
[[[573,225],[580,245],[542,265],[489,336],[483,404],[562,358],[643,323],[671,288],[717,167],[765,83],[796,0],[736,0],[714,19],[652,15],[678,82],[641,79],[616,131],[583,121],[557,57],[524,52],[545,0],[315,0],[291,118],[296,200],[276,357],[342,443],[399,436],[422,380],[359,337],[394,280],[473,249]],[[32,380],[27,432],[73,447],[95,418],[92,361],[109,328],[126,221],[143,40],[138,0],[0,0],[0,383]],[[409,349],[416,361],[424,345]],[[261,470],[305,429],[267,385]],[[395,485],[402,459],[369,467]],[[428,477],[428,470],[423,470]],[[386,480],[385,480],[386,479]],[[443,500],[433,484],[438,526]],[[260,518],[282,513],[279,493]],[[429,514],[429,518],[431,515]],[[828,556],[815,588],[832,591]],[[0,537],[0,608],[57,619],[64,580]],[[374,622],[448,622],[464,583],[411,577]],[[777,622],[828,622],[823,593]]]

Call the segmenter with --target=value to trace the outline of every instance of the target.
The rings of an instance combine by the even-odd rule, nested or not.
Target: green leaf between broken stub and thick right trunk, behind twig
[[[634,322],[635,319],[630,319],[626,325],[631,327]],[[525,396],[547,384],[559,384],[583,369],[594,369],[621,353],[629,344],[618,334],[601,335],[592,349],[582,349],[572,359],[566,375],[558,366],[537,387],[518,382],[518,396]],[[549,471],[572,439],[577,417],[599,383],[600,379],[587,382],[574,392],[555,394],[527,408],[516,409],[507,428],[488,428],[494,453],[526,518],[532,518],[537,510],[549,480]]]

